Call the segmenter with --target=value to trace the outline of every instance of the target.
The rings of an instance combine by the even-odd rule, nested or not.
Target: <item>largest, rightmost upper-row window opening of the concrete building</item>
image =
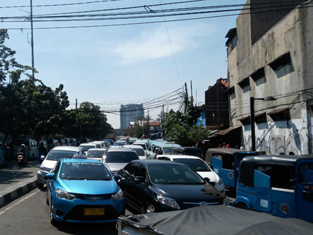
[[[275,71],[277,78],[282,78],[283,76],[295,71],[289,52],[281,55],[268,65]]]

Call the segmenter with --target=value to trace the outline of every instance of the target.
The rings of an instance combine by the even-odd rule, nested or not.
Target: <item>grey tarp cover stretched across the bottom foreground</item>
[[[155,234],[312,234],[313,225],[295,218],[278,218],[268,213],[248,211],[232,206],[199,206],[119,218],[125,225],[148,229]]]

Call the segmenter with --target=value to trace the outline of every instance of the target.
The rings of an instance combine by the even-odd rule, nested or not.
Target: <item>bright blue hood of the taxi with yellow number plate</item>
[[[112,194],[118,187],[115,180],[61,180],[60,185],[77,194]]]

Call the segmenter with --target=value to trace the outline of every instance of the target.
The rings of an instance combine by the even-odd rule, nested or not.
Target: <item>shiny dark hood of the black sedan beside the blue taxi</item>
[[[212,185],[162,185],[155,184],[154,190],[163,197],[177,202],[221,201],[224,195]]]

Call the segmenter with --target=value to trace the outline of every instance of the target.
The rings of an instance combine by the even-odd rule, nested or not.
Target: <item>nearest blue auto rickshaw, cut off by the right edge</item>
[[[235,204],[313,222],[313,155],[245,157]]]

